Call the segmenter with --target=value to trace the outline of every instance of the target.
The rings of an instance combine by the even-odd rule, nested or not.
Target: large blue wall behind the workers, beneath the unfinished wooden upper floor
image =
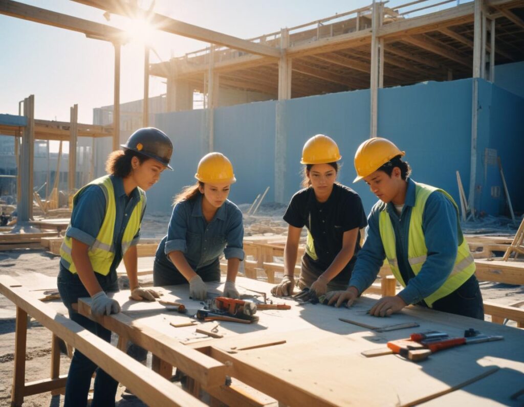
[[[456,171],[460,171],[466,196],[471,165],[471,112],[473,80],[424,82],[379,90],[378,134],[390,138],[413,168],[413,179],[448,191],[459,203]],[[490,196],[492,185],[501,186],[498,167],[484,168],[485,148],[497,149],[504,165],[515,210],[522,210],[524,192],[521,150],[524,99],[478,80],[478,141],[476,202],[479,210],[497,215],[504,209],[504,191]],[[369,211],[375,196],[355,177],[353,157],[369,136],[369,90],[296,98],[285,101],[283,133],[286,135],[284,200],[300,188],[302,146],[315,134],[332,137],[340,147],[339,180],[362,196]],[[274,201],[275,132],[277,102],[257,102],[217,108],[214,112],[214,146],[233,162],[237,183],[231,199],[251,203],[270,186],[265,202]],[[199,159],[206,151],[206,116],[203,111],[156,115],[156,126],[166,131],[174,145],[174,172],[162,174],[159,185],[148,192],[149,211],[169,212],[172,196],[192,184]],[[277,152],[278,153],[278,152]],[[520,167],[520,168],[519,168]]]

